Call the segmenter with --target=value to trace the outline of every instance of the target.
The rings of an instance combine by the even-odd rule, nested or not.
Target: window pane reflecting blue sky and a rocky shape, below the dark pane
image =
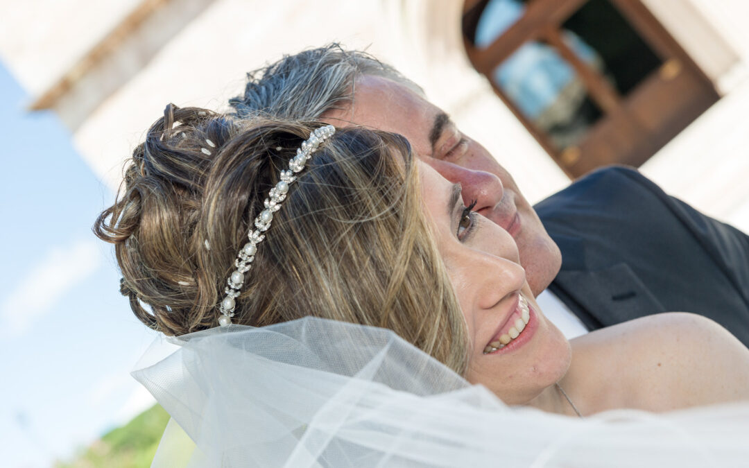
[[[524,43],[491,79],[557,151],[577,144],[601,118],[574,69],[548,44]]]

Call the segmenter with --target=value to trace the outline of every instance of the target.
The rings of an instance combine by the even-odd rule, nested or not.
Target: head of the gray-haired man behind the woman
[[[400,133],[425,162],[463,186],[468,203],[515,238],[534,294],[557,275],[560,251],[510,174],[455,127],[421,88],[364,52],[333,44],[288,55],[249,73],[243,96],[229,101],[237,115],[321,119]]]

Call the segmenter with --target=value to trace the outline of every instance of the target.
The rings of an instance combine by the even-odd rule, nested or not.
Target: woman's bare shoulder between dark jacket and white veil
[[[577,376],[603,379],[599,390],[619,407],[664,411],[749,398],[749,349],[701,315],[650,315],[572,346]]]

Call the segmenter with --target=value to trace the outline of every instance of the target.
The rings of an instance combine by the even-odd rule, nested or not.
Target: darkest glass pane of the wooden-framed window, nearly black
[[[622,96],[661,64],[658,55],[608,0],[586,2],[562,28],[568,46],[603,73]]]

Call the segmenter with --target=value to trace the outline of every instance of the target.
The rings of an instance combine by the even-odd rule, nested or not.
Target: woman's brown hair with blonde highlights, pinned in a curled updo
[[[217,325],[250,223],[320,125],[167,107],[134,151],[117,201],[94,225],[115,244],[121,292],[140,320],[167,335]],[[403,137],[339,129],[307,162],[266,234],[234,323],[312,315],[385,327],[465,371],[464,318]]]

